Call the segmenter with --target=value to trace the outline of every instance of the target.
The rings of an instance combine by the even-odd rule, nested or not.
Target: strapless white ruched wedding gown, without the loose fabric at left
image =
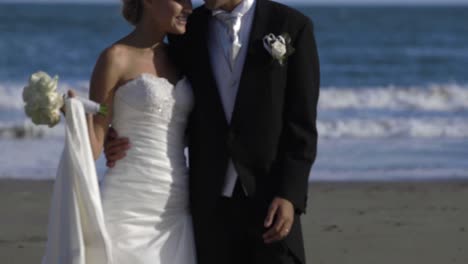
[[[101,185],[113,263],[195,263],[184,155],[192,107],[185,78],[145,73],[115,92],[112,126],[131,147]]]

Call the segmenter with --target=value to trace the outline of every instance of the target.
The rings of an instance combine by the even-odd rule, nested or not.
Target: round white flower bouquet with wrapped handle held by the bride
[[[60,122],[60,109],[67,99],[66,94],[57,90],[58,76],[51,78],[47,73],[39,71],[31,75],[29,84],[23,89],[24,110],[36,125],[54,127]],[[107,107],[96,102],[76,97],[86,113],[107,115]]]

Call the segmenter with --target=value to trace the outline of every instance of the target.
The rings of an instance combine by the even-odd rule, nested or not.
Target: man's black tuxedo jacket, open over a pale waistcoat
[[[171,36],[171,54],[189,78],[195,106],[188,127],[190,197],[194,214],[214,208],[232,158],[249,197],[279,196],[306,208],[317,147],[319,63],[311,21],[269,0],[257,0],[247,57],[228,124],[210,63],[211,11],[195,9],[187,33]],[[269,33],[291,36],[284,65],[263,46]]]

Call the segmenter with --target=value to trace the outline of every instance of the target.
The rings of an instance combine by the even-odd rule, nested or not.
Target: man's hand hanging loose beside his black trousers
[[[294,206],[283,198],[276,197],[268,209],[265,218],[265,228],[269,228],[263,234],[263,241],[267,244],[280,241],[288,236],[294,222]]]

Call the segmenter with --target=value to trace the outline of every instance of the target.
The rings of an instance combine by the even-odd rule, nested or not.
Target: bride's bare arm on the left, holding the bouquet
[[[89,98],[107,106],[108,113],[103,115],[87,114],[89,140],[95,160],[101,155],[104,139],[112,120],[114,92],[119,83],[123,61],[115,47],[106,49],[94,67],[90,82]]]

